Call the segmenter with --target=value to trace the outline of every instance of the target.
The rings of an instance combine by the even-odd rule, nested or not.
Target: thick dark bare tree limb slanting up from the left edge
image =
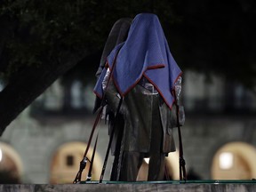
[[[28,67],[17,74],[0,92],[0,136],[20,112],[84,57],[84,53],[68,54],[59,63]]]

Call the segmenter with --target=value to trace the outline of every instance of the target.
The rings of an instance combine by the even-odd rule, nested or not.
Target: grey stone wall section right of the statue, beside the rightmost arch
[[[199,116],[187,118],[182,127],[184,157],[202,179],[211,180],[212,157],[229,142],[242,141],[256,146],[253,117]],[[176,137],[177,138],[177,137]],[[176,143],[178,143],[176,141]]]

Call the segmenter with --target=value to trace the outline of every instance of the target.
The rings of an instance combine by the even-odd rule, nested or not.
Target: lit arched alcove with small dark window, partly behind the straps
[[[68,142],[57,148],[52,157],[50,183],[72,183],[79,170],[86,147],[87,145],[83,142]],[[91,160],[92,151],[93,148],[89,148],[87,154],[89,160]],[[90,161],[87,161],[81,180],[86,180],[90,164]],[[92,167],[92,180],[100,179],[101,168],[101,158],[96,152]]]

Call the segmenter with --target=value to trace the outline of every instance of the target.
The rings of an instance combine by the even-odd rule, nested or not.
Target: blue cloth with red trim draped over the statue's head
[[[134,18],[126,41],[117,44],[108,55],[107,65],[111,70],[115,57],[113,79],[122,96],[145,76],[155,85],[169,108],[172,108],[172,90],[181,70],[172,57],[163,28],[155,14],[142,13]],[[105,74],[106,68],[94,87],[94,92],[99,97],[102,97],[101,83]]]

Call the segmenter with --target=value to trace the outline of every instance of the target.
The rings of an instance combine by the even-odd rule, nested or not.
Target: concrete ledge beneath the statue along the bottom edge
[[[81,184],[48,185],[48,184],[6,184],[0,185],[1,192],[101,192],[101,191],[193,191],[193,192],[251,192],[256,191],[256,181],[193,181],[193,182],[88,182]]]

